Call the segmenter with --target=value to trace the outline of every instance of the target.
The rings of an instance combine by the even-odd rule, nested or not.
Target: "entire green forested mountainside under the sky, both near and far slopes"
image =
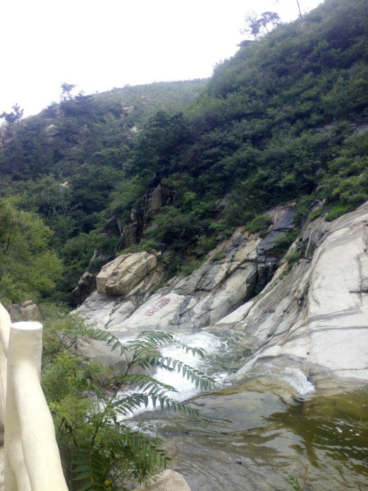
[[[168,251],[168,275],[185,272],[188,251],[193,268],[237,225],[266,227],[270,205],[296,200],[298,227],[315,199],[328,220],[366,201],[367,34],[367,0],[326,0],[243,43],[209,81],[64,94],[4,123],[0,298],[69,302],[81,273],[123,250]],[[133,240],[121,240],[154,175],[165,199]],[[42,229],[44,241],[21,253],[13,230],[25,227]],[[42,287],[12,266],[28,249],[53,258]]]

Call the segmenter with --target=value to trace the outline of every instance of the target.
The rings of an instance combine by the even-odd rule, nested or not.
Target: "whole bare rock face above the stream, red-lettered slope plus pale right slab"
[[[274,224],[265,237],[238,229],[188,278],[174,277],[153,293],[163,278],[158,265],[124,297],[94,292],[78,311],[124,337],[212,325],[242,330],[255,353],[239,376],[258,361],[287,359],[306,373],[367,379],[368,203],[334,222],[307,222],[290,247],[300,253],[290,271],[275,246],[292,227],[292,207],[269,214]]]

